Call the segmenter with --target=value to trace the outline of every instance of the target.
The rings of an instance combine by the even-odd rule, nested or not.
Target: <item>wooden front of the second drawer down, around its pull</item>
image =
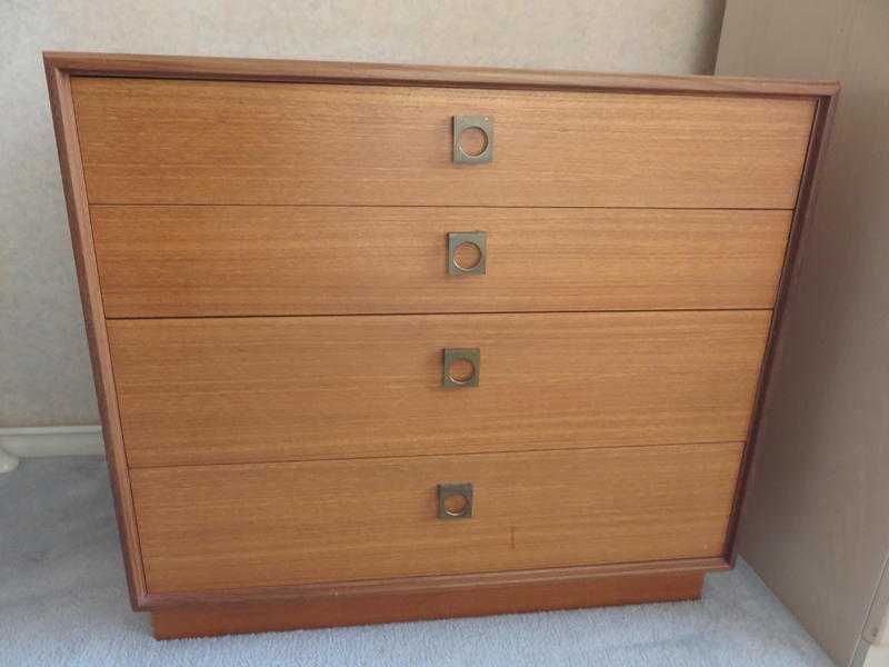
[[[91,212],[110,318],[771,308],[790,217],[453,207]],[[475,230],[485,232],[485,273],[451,275],[449,232]]]

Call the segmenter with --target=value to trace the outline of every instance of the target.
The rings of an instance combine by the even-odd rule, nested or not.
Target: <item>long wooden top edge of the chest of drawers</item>
[[[832,96],[836,81],[701,76],[618,74],[558,70],[379,64],[258,58],[139,56],[44,51],[47,69],[81,76],[384,83],[512,89],[638,90],[733,94]]]

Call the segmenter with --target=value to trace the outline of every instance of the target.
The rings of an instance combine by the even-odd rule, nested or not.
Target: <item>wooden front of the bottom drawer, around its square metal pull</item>
[[[723,555],[742,445],[131,472],[149,593]],[[438,486],[472,485],[471,518]]]

